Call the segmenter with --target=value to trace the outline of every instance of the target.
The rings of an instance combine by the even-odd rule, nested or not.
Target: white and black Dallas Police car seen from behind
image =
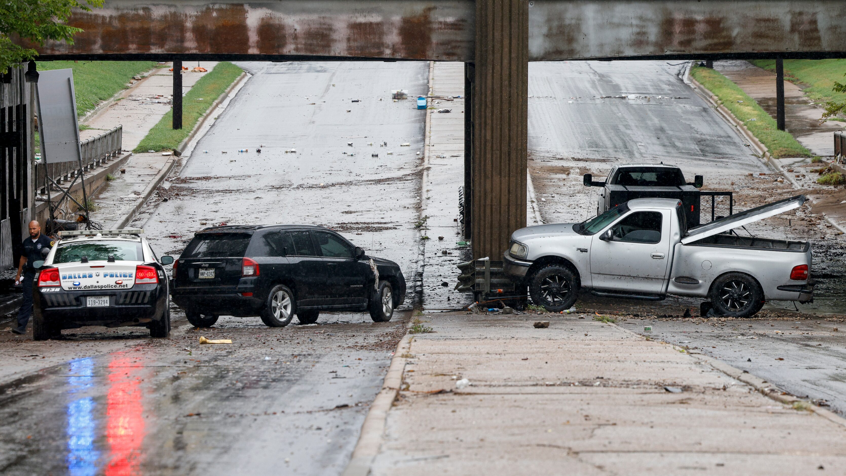
[[[144,230],[59,231],[60,241],[39,270],[33,336],[49,339],[84,325],[144,326],[153,337],[170,331],[168,274],[141,237]]]

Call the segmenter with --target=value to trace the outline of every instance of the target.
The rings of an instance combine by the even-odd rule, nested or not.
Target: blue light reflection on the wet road
[[[91,357],[70,361],[69,391],[73,397],[94,385],[94,361]],[[68,404],[68,472],[70,476],[94,476],[100,451],[94,447],[96,402],[91,396],[82,397]]]

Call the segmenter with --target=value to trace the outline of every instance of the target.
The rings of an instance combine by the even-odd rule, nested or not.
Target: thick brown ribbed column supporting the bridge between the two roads
[[[528,0],[477,0],[472,92],[473,257],[502,259],[526,225]]]

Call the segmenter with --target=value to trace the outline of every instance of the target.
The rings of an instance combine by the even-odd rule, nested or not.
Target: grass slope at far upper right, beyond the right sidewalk
[[[750,62],[759,68],[775,72],[775,59]],[[832,91],[834,82],[846,82],[846,59],[785,59],[784,79],[799,85],[814,102],[846,102],[846,92]],[[846,114],[840,114],[840,120]],[[835,118],[831,118],[834,120]]]

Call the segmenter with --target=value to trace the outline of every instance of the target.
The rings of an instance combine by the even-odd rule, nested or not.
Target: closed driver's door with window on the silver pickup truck
[[[670,259],[671,210],[634,210],[591,239],[591,279],[596,289],[660,294]]]

